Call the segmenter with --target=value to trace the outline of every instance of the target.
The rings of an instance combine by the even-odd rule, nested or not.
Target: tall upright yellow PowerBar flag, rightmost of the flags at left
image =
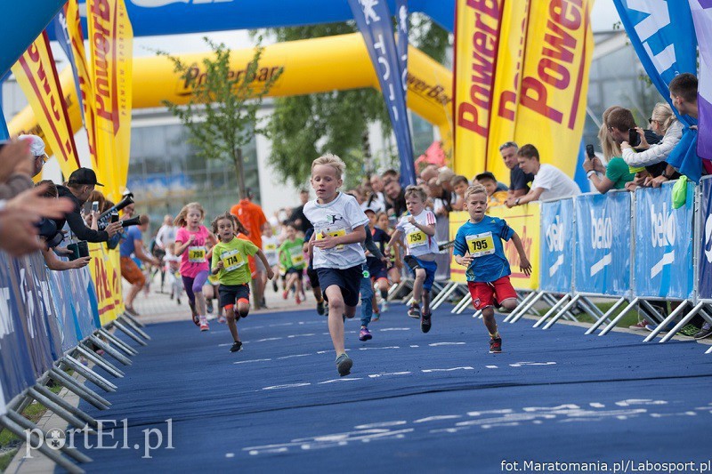
[[[131,146],[134,32],[124,0],[87,0],[97,179],[118,202],[126,186]]]

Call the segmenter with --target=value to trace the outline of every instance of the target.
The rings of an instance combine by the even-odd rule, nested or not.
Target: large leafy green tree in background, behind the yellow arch
[[[277,41],[357,31],[353,22],[269,30]],[[422,15],[411,15],[410,39],[412,44],[426,46],[424,51],[435,60],[442,62],[445,59],[449,42],[447,31]],[[272,139],[269,159],[283,180],[297,186],[303,184],[311,171],[310,158],[327,151],[344,159],[350,181],[360,180],[360,177],[376,171],[370,160],[368,125],[378,123],[384,134],[391,133],[391,121],[380,91],[357,89],[284,97],[276,99],[274,106],[268,125]],[[396,154],[395,149],[392,154]],[[352,184],[356,182],[347,183]]]

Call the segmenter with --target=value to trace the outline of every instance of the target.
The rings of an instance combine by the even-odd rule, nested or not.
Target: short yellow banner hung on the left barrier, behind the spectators
[[[124,312],[121,293],[121,262],[118,250],[107,250],[104,244],[89,244],[92,261],[89,269],[96,288],[101,325],[106,325]]]

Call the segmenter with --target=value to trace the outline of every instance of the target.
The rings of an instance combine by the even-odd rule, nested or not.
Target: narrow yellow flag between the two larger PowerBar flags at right
[[[515,118],[527,45],[529,9],[530,0],[515,2],[510,0],[505,2],[502,12],[486,169],[494,173],[499,181],[507,184],[509,184],[509,168],[502,160],[499,146],[506,141],[514,141]]]

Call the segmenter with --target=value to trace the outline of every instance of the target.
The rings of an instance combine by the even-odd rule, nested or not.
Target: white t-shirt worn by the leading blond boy
[[[354,197],[339,193],[336,199],[327,205],[320,205],[316,200],[304,205],[304,215],[314,226],[314,238],[322,233],[331,236],[345,236],[353,229],[368,224],[368,217],[361,211]],[[336,245],[322,250],[314,247],[314,269],[350,269],[366,261],[363,247],[359,244]]]

